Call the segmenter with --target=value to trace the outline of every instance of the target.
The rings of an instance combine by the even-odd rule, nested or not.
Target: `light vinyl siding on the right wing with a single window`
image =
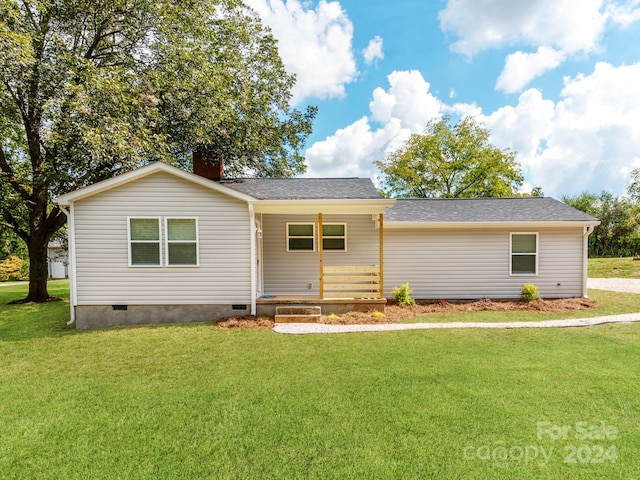
[[[533,283],[546,298],[582,296],[582,229],[538,232],[538,275],[511,276],[513,229],[385,231],[385,293],[409,282],[414,298],[517,298]]]

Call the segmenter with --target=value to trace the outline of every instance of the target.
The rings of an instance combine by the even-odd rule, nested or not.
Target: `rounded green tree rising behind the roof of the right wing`
[[[515,153],[492,145],[472,117],[430,121],[377,165],[383,190],[397,197],[506,197],[523,181]]]

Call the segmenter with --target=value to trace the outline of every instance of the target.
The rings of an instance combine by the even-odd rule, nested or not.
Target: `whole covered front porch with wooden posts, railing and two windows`
[[[314,205],[322,209],[315,214],[306,208],[257,212],[256,315],[282,319],[313,310],[305,321],[317,321],[317,307],[322,315],[384,312],[384,206],[378,201],[351,206],[354,212],[344,204]]]

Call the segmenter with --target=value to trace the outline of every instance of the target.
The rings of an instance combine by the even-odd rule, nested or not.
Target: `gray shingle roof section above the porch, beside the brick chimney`
[[[260,200],[380,198],[369,178],[239,178],[220,183]]]

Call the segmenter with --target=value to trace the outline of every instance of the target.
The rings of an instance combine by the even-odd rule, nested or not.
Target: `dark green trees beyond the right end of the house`
[[[627,197],[609,192],[599,196],[583,192],[562,201],[600,220],[589,237],[589,254],[596,257],[625,257],[640,253],[638,205]]]

